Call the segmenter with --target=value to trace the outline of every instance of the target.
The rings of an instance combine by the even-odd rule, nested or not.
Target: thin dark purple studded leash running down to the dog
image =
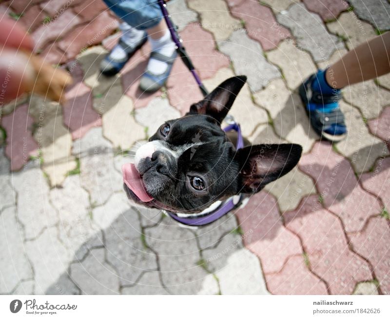
[[[202,92],[203,96],[206,96],[208,93],[206,87],[203,85],[202,81],[200,80],[198,74],[195,71],[194,64],[192,63],[190,57],[188,56],[186,49],[184,48],[182,44],[182,40],[180,39],[178,33],[176,32],[176,26],[171,21],[171,15],[168,13],[167,5],[164,0],[157,0],[158,5],[160,6],[162,15],[164,17],[165,22],[167,23],[169,32],[171,33],[171,38],[173,42],[176,44],[176,51],[180,55],[181,60],[183,63],[187,66],[188,70],[192,73],[192,75],[195,78],[195,81],[197,85],[199,86],[200,91]]]

